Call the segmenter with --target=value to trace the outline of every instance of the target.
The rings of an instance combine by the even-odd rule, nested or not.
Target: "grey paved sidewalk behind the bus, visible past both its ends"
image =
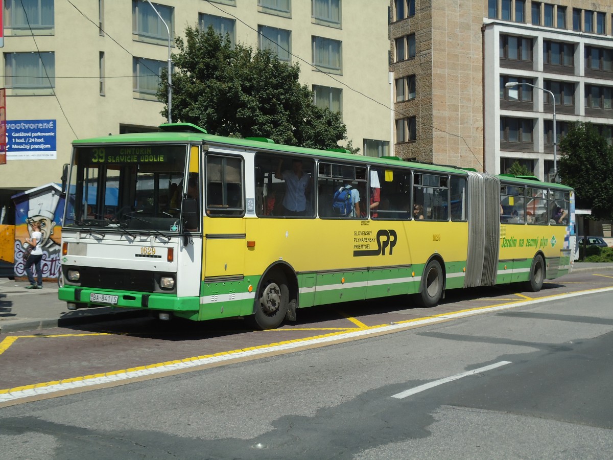
[[[575,263],[573,267],[573,273],[608,270],[613,270],[613,263]],[[44,283],[42,289],[25,289],[28,284],[27,281],[0,278],[0,334],[147,315],[142,310],[111,307],[70,311],[66,302],[58,300],[58,285],[55,282]]]

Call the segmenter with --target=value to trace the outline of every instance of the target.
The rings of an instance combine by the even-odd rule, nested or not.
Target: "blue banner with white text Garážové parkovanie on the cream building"
[[[57,159],[55,120],[8,120],[6,158]]]

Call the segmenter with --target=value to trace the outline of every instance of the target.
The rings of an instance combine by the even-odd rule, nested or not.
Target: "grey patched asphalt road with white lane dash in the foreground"
[[[4,407],[2,456],[609,459],[611,295],[562,295]],[[150,337],[113,337],[154,348]]]

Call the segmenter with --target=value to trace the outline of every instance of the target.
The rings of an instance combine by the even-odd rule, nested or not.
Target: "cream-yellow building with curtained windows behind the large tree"
[[[59,182],[72,140],[150,131],[165,122],[155,98],[156,73],[166,68],[169,54],[166,28],[147,1],[4,5],[9,136],[7,163],[0,165],[0,208],[16,191]],[[281,59],[299,63],[300,80],[314,90],[315,103],[342,113],[352,145],[367,155],[389,155],[389,1],[153,5],[172,37],[187,25],[211,24],[237,42],[273,47]],[[173,39],[170,51],[177,52]]]

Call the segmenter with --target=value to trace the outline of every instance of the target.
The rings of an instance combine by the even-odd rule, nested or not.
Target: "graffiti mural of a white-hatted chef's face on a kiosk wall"
[[[40,269],[44,278],[57,278],[60,267],[60,243],[64,197],[61,188],[51,183],[33,188],[12,197],[15,201],[15,275],[26,276],[23,253],[26,238],[31,237],[32,224],[40,223],[42,232],[42,261]],[[32,266],[36,277],[36,267]]]

